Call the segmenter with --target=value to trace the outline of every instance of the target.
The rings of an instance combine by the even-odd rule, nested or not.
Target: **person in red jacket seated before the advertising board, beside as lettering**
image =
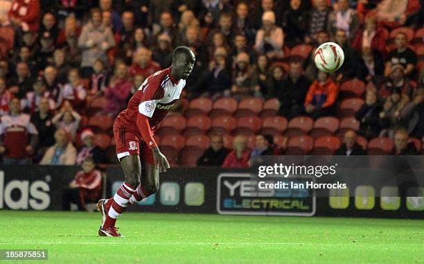
[[[102,195],[102,173],[96,170],[96,162],[93,158],[86,157],[80,170],[69,188],[64,189],[62,209],[71,210],[71,203],[78,206],[78,211],[87,211],[85,205],[88,202],[97,202]]]

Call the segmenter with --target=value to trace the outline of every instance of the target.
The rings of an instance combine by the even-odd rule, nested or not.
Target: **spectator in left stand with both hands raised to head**
[[[62,129],[69,133],[70,139],[73,141],[80,125],[81,116],[78,112],[74,111],[72,105],[65,102],[60,112],[55,115],[52,122],[58,129]]]

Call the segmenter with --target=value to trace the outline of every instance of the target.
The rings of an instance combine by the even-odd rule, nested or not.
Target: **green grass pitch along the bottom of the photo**
[[[0,249],[48,249],[40,263],[424,261],[423,220],[125,213],[126,238],[99,225],[98,212],[0,211]]]

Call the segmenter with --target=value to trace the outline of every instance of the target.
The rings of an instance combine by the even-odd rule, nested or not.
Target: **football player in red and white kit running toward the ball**
[[[103,215],[99,236],[122,236],[115,227],[116,218],[128,204],[138,203],[159,188],[159,172],[170,166],[157,147],[153,132],[179,99],[194,64],[193,51],[186,46],[177,47],[171,67],[149,76],[132,96],[127,109],[116,118],[116,155],[125,182],[114,197],[98,201],[98,210]]]

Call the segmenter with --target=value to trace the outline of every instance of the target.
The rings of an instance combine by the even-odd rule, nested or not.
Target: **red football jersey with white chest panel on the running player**
[[[175,80],[170,68],[157,71],[149,76],[130,99],[127,109],[116,118],[115,125],[123,125],[126,130],[140,134],[136,125],[137,115],[148,116],[154,132],[157,125],[179,99],[186,80]],[[141,139],[142,137],[140,137]]]

